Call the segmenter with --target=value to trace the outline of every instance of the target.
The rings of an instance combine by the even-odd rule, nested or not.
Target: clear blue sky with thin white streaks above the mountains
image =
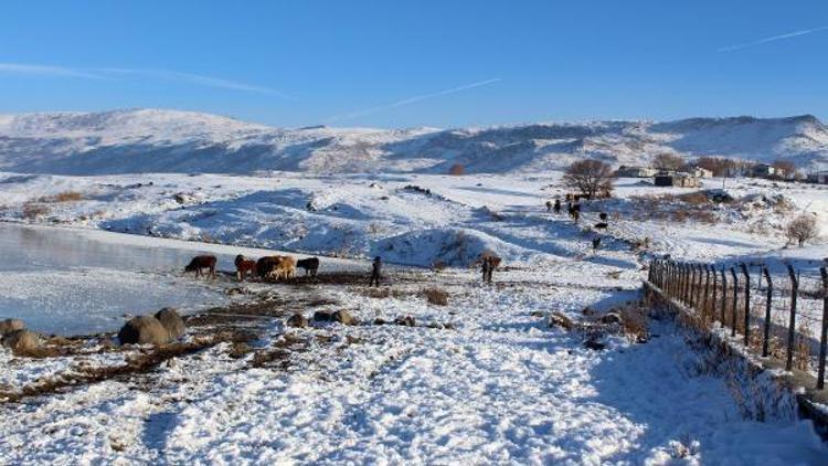
[[[0,113],[163,107],[276,126],[828,119],[828,2],[23,1]]]

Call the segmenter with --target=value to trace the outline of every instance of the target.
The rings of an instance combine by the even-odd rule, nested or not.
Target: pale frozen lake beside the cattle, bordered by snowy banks
[[[221,288],[183,277],[198,244],[100,231],[0,224],[0,318],[57,335],[116,330],[125,314],[220,304]],[[220,268],[232,268],[220,257]]]

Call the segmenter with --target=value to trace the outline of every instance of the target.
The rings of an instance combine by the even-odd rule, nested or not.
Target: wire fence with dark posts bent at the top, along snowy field
[[[648,280],[696,311],[705,328],[714,322],[743,338],[763,358],[785,369],[816,372],[825,388],[828,346],[826,266],[771,268],[762,263],[700,264],[654,260]]]

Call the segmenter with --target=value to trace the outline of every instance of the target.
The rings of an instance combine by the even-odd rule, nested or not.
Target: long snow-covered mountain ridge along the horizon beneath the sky
[[[215,115],[160,110],[0,115],[0,171],[129,172],[531,172],[574,159],[645,165],[687,158],[789,159],[828,168],[828,127],[816,117],[677,121],[540,123],[404,130],[282,129]]]

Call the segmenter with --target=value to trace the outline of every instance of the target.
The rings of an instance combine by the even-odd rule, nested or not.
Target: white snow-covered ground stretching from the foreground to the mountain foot
[[[721,180],[705,184],[721,188]],[[655,322],[646,343],[607,337],[607,349],[593,351],[576,332],[550,328],[544,316],[581,319],[586,307],[635,299],[643,266],[656,255],[828,256],[821,240],[807,251],[783,248],[784,225],[799,212],[817,213],[825,226],[825,191],[739,179],[726,181],[735,202],[700,203],[680,197],[693,190],[623,179],[614,199],[584,203],[578,224],[543,205],[565,191],[556,172],[0,174],[2,220],[56,225],[39,231],[70,232],[68,242],[79,235],[123,247],[135,260],[129,276],[149,271],[176,293],[220,295],[172,272],[195,252],[217,253],[224,269],[236,253],[264,254],[252,247],[319,254],[323,264],[350,271],[367,269],[362,260],[374,255],[450,266],[405,269],[408,278],[392,285],[395,293],[379,297],[359,284],[256,285],[290,311],[310,317],[316,309],[298,303],[314,296],[367,325],[288,329],[287,316],[270,317],[241,356],[221,343],[150,374],[0,404],[0,463],[824,463],[828,451],[809,423],[742,419],[724,382],[703,371],[669,322]],[[690,215],[682,213],[688,206]],[[611,215],[607,231],[591,229],[599,212]],[[597,252],[594,237],[602,239]],[[57,263],[53,275],[77,283],[89,269],[112,268],[91,262],[102,251],[98,244],[73,256],[78,269]],[[466,268],[486,251],[506,266],[491,287]],[[333,255],[343,260],[327,257]],[[7,272],[14,289],[29,288],[25,265]],[[121,280],[100,275],[109,276],[98,289]],[[448,306],[421,295],[435,286],[448,292]],[[0,297],[10,294],[0,285]],[[400,316],[440,325],[371,325]],[[285,343],[288,335],[293,343]],[[130,357],[88,345],[73,358],[0,351],[7,368],[0,391]],[[278,363],[259,363],[277,350],[287,351]]]

